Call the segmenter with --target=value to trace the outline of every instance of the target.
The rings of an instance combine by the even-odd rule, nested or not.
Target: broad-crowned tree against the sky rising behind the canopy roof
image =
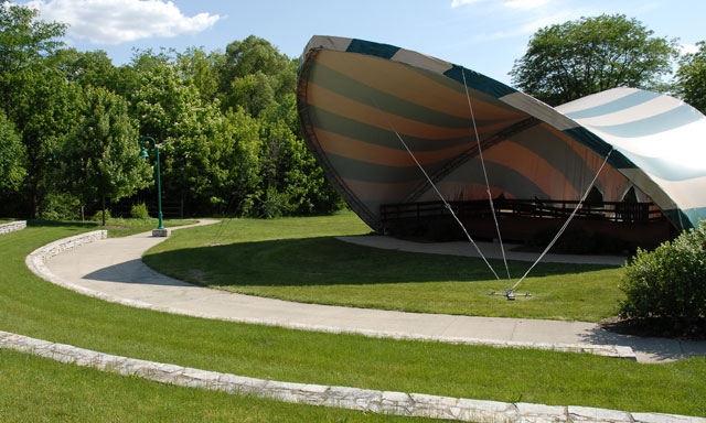
[[[552,106],[616,87],[664,90],[675,41],[624,14],[581,18],[537,31],[510,72],[514,86]]]

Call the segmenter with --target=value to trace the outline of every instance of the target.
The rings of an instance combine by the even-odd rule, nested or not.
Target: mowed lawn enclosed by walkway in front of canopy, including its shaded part
[[[145,262],[188,282],[281,300],[406,312],[598,322],[617,314],[621,270],[541,263],[509,302],[480,259],[356,246],[335,236],[370,232],[352,213],[233,219],[174,232]],[[216,245],[214,245],[216,243]],[[468,248],[472,248],[470,245]],[[491,260],[499,274],[501,261]],[[522,275],[531,263],[510,262]]]

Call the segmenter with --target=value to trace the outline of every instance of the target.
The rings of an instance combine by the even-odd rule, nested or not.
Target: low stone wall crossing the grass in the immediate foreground
[[[479,423],[706,423],[706,419],[674,414],[628,413],[624,411],[574,405],[554,406],[479,401],[422,393],[278,382],[114,356],[7,332],[0,332],[0,348],[29,352],[61,362],[93,367],[103,371],[111,371],[125,376],[137,376],[161,383],[203,388],[228,393],[248,393],[286,402],[335,406],[405,416],[426,416]]]

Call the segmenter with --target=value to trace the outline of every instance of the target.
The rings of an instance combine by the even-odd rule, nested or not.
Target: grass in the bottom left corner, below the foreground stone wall
[[[128,378],[0,350],[2,422],[431,422]]]

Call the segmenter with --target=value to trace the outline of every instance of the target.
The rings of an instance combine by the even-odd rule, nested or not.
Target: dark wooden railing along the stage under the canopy
[[[574,212],[578,200],[498,198],[493,203],[499,217],[566,218]],[[449,206],[461,219],[491,216],[489,202],[485,199],[449,202]],[[451,215],[442,202],[384,204],[379,210],[383,223]],[[576,218],[630,223],[657,220],[662,217],[662,212],[652,203],[584,203],[576,213]]]

